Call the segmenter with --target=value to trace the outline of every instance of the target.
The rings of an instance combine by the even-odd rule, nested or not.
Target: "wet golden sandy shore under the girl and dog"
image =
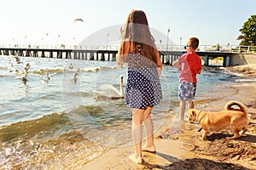
[[[255,65],[226,69],[243,77],[256,77]],[[85,164],[83,169],[256,169],[256,82],[241,82],[227,88],[234,93],[212,101],[195,100],[195,108],[219,111],[229,100],[241,101],[247,106],[249,124],[247,133],[240,139],[226,139],[233,134],[230,129],[224,129],[212,133],[207,140],[200,140],[198,124],[189,122],[185,122],[178,133],[156,138],[164,134],[172,122],[172,118],[166,118],[166,122],[154,134],[156,153],[143,152],[142,164],[129,159],[133,153],[132,146],[119,147],[96,157]]]

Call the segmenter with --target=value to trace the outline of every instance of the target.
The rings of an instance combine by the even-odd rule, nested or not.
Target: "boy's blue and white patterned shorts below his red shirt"
[[[180,82],[178,86],[178,99],[195,99],[196,84],[193,82]]]

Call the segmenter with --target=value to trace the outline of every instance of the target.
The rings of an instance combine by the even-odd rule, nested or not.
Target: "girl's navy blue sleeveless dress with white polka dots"
[[[129,54],[125,103],[131,108],[146,109],[160,103],[162,91],[154,61],[141,54]]]

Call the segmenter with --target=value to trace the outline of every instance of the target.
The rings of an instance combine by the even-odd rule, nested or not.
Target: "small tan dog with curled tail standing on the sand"
[[[232,108],[237,105],[240,109]],[[199,122],[201,128],[204,130],[201,139],[206,139],[210,130],[218,131],[230,126],[235,135],[230,139],[237,139],[241,136],[239,133],[247,131],[248,119],[246,106],[237,101],[229,101],[223,111],[210,112],[198,111],[196,109],[189,109],[189,121]]]

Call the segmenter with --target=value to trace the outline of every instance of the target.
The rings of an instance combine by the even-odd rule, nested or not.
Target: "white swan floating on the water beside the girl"
[[[102,84],[100,86],[100,91],[93,90],[92,92],[96,94],[97,97],[107,97],[111,99],[125,98],[123,79],[123,76],[120,76],[120,91],[114,88],[111,84]]]

